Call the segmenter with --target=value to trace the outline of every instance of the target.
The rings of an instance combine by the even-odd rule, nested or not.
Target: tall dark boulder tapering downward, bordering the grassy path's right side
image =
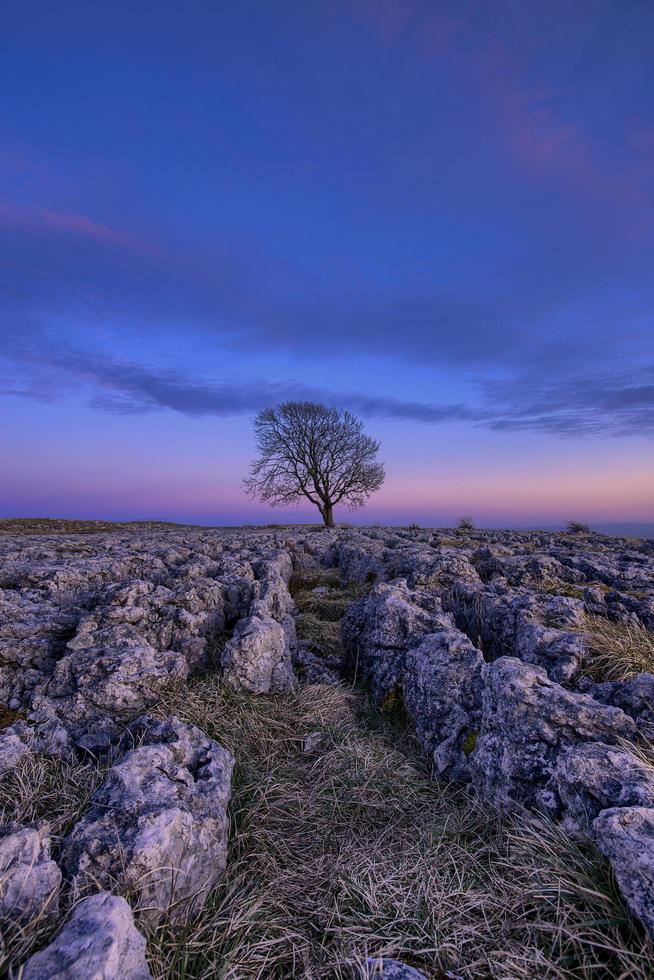
[[[483,666],[481,652],[455,629],[428,634],[406,655],[405,707],[436,772],[449,779],[468,776],[479,733]]]

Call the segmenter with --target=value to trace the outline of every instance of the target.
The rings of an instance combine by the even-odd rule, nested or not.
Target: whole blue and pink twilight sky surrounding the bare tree
[[[0,516],[260,523],[257,411],[358,522],[654,522],[654,4],[9,5]]]

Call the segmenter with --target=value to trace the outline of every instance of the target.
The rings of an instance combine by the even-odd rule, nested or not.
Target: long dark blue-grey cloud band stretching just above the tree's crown
[[[170,370],[70,350],[16,353],[14,367],[58,373],[60,397],[80,382],[92,407],[113,414],[170,410],[191,417],[248,415],[283,401],[308,399],[349,408],[368,418],[394,418],[437,425],[467,422],[493,430],[545,432],[557,436],[641,435],[654,437],[654,365],[638,377],[576,377],[538,385],[533,378],[486,383],[481,403],[430,403],[360,395],[308,385],[301,380],[257,378],[207,380]],[[42,397],[44,386],[0,379],[5,394]],[[49,397],[57,394],[50,384]]]

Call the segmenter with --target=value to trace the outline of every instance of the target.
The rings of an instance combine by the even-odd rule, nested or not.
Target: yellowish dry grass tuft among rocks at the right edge
[[[583,633],[588,644],[585,669],[596,680],[626,681],[654,673],[654,633],[644,626],[587,616]]]

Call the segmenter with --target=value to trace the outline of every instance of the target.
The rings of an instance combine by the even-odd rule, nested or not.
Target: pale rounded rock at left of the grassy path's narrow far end
[[[291,691],[295,675],[284,627],[270,616],[240,620],[223,650],[226,683],[255,694]]]

